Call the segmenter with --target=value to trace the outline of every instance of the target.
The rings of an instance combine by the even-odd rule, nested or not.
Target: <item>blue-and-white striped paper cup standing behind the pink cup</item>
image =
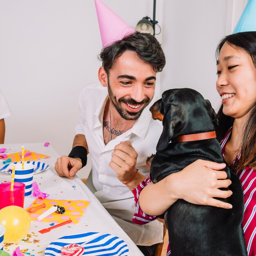
[[[31,195],[32,193],[33,173],[34,164],[24,163],[23,170],[22,164],[15,164],[14,182],[22,182],[25,184],[25,196]]]

